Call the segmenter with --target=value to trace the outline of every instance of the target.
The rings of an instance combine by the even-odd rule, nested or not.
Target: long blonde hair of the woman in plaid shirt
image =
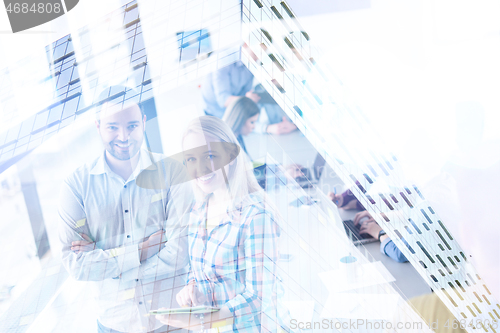
[[[216,140],[231,143],[240,148],[239,153],[234,159],[234,163],[229,165],[229,172],[227,174],[227,186],[232,197],[232,208],[238,208],[239,204],[248,198],[248,194],[250,193],[261,192],[264,195],[264,191],[257,183],[257,179],[253,174],[252,163],[243,153],[241,147],[239,147],[236,136],[225,122],[212,116],[198,117],[189,123],[182,138],[183,142],[189,134],[201,134],[207,142]],[[203,193],[196,182],[194,184],[194,192],[197,200],[204,200],[206,194]]]

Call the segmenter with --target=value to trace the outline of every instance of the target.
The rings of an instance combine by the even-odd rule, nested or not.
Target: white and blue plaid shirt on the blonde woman
[[[196,280],[212,306],[229,308],[233,331],[275,330],[278,224],[262,199],[249,195],[207,235],[207,207],[199,202],[191,211],[187,282]]]

